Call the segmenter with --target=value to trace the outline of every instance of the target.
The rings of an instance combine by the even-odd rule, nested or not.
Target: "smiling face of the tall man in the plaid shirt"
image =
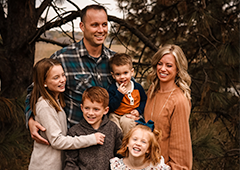
[[[104,43],[108,33],[108,19],[104,10],[89,9],[84,21],[80,23],[85,45],[93,47]]]

